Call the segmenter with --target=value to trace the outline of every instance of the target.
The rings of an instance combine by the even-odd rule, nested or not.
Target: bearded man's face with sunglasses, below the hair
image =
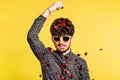
[[[72,36],[53,36],[52,37],[52,41],[56,47],[56,49],[58,51],[60,51],[61,53],[66,52],[71,45],[71,41],[72,41],[73,37]]]

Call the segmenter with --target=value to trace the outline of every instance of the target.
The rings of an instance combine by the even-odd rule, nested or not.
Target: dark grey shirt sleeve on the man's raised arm
[[[38,34],[43,27],[45,21],[46,18],[40,15],[38,18],[35,19],[32,27],[27,34],[27,41],[38,60],[40,60],[41,54],[45,53],[46,50],[44,44],[40,41],[38,37]]]

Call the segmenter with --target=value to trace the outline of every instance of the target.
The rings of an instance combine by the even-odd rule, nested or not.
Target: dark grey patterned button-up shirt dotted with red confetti
[[[41,63],[43,80],[90,80],[86,61],[72,51],[63,55],[57,50],[46,48],[38,34],[46,18],[39,16],[30,28],[27,40]]]

